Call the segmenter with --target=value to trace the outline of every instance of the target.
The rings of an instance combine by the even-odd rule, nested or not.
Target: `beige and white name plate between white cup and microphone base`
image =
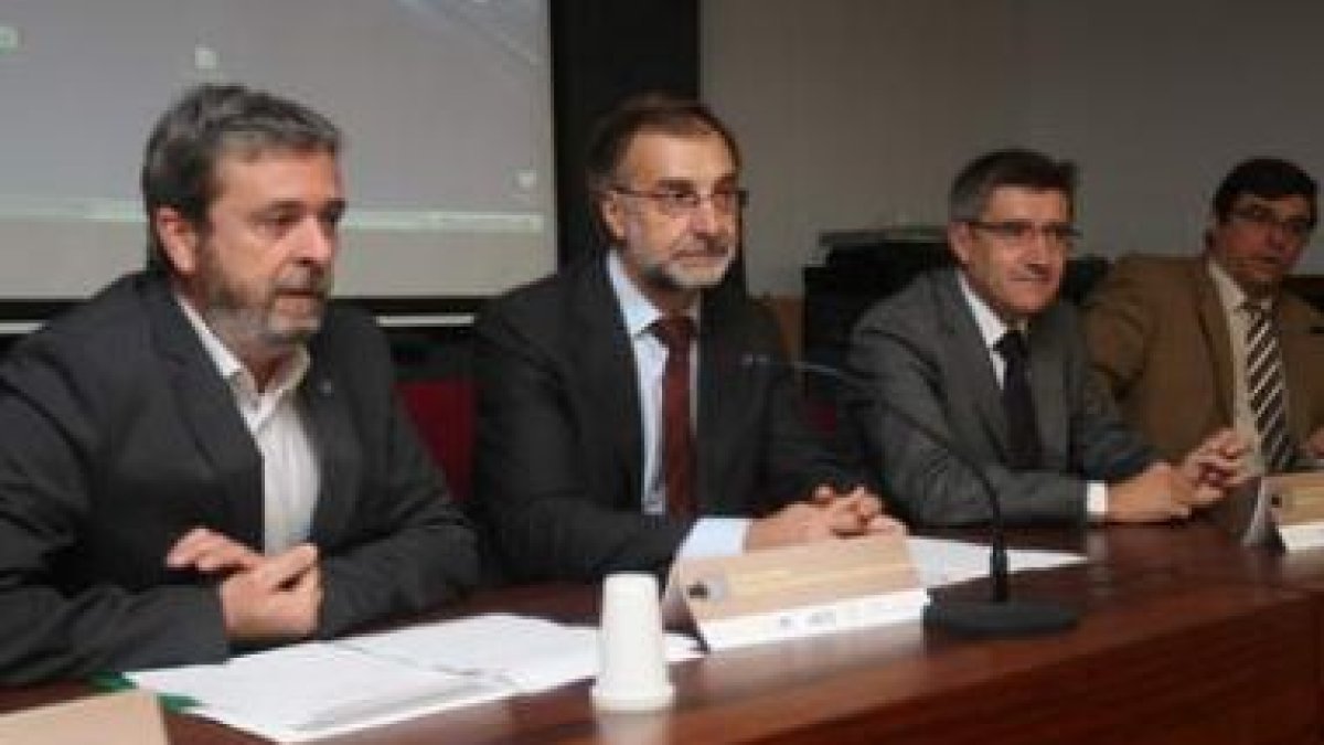
[[[671,594],[712,651],[918,620],[928,604],[904,536],[682,559]]]

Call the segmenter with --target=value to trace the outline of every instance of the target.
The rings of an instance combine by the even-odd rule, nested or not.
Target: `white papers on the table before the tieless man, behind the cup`
[[[699,656],[667,635],[671,661]],[[128,673],[135,684],[197,701],[192,713],[278,742],[543,691],[597,672],[597,630],[482,615],[400,631],[310,642],[222,664]]]

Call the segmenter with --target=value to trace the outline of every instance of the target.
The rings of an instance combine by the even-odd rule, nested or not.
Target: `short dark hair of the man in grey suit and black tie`
[[[978,220],[989,196],[1000,187],[1062,192],[1074,212],[1076,167],[1070,160],[1054,160],[1042,152],[1017,147],[981,155],[961,168],[952,182],[948,219],[952,223]]]

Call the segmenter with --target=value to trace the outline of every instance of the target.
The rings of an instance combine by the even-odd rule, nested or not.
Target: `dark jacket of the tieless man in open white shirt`
[[[330,636],[453,598],[477,558],[371,319],[332,306],[308,351]],[[199,525],[261,549],[261,455],[167,281],[130,276],[0,366],[0,677],[229,655],[214,583],[164,565]]]

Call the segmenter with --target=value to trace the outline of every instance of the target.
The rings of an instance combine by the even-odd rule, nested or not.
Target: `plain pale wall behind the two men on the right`
[[[800,294],[826,229],[940,223],[955,171],[1082,166],[1083,252],[1184,253],[1243,156],[1324,176],[1316,0],[707,0],[704,98],[753,192],[751,289]],[[1319,252],[1304,272],[1324,272]]]

